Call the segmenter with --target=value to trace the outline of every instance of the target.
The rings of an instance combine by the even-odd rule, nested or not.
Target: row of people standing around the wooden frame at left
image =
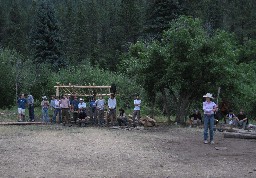
[[[28,95],[26,98],[24,94],[20,95],[17,101],[18,104],[18,114],[19,121],[25,121],[25,109],[28,105],[29,108],[29,121],[34,122],[34,99],[32,95]],[[133,111],[133,126],[136,127],[140,119],[140,105],[141,100],[139,95],[134,99],[134,111]],[[119,115],[116,116],[117,102],[115,95],[110,94],[110,97],[105,102],[102,95],[98,96],[96,100],[95,97],[91,97],[89,102],[89,107],[87,107],[86,102],[83,98],[78,100],[76,95],[63,95],[61,98],[57,96],[52,96],[50,102],[46,96],[42,97],[41,108],[42,108],[42,121],[49,123],[62,123],[63,125],[71,125],[71,118],[74,122],[81,120],[90,119],[93,125],[115,125],[128,126],[128,118],[125,115],[123,108],[119,109]],[[52,119],[49,117],[49,110],[53,111]],[[105,110],[107,110],[107,115],[105,117]],[[72,115],[72,116],[71,116]],[[88,117],[89,116],[89,117]]]

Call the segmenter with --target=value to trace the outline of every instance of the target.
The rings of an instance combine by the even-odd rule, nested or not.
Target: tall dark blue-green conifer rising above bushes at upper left
[[[48,0],[38,3],[31,32],[34,63],[49,63],[53,68],[66,65],[61,51],[59,25],[53,5]]]

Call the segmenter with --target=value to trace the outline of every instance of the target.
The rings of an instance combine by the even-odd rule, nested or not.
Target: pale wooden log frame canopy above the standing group
[[[59,82],[56,82],[56,96],[61,94],[65,95],[76,95],[76,96],[110,96],[111,86],[79,86],[79,85],[61,85]]]

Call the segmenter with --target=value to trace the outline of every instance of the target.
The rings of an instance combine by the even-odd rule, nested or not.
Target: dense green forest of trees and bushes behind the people
[[[177,122],[207,92],[253,119],[255,21],[254,0],[0,0],[0,107],[95,83]]]

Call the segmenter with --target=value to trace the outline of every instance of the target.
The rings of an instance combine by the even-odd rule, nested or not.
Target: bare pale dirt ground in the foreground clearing
[[[0,126],[0,177],[256,177],[256,140],[202,138],[197,128]]]

